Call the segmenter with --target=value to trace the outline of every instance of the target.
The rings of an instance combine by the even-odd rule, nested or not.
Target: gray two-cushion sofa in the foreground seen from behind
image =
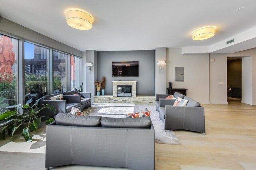
[[[76,164],[154,170],[154,127],[150,117],[59,113],[55,119],[46,126],[46,168]]]

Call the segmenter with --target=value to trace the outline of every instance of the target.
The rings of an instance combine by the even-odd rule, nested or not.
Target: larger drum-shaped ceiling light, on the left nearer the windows
[[[70,10],[66,14],[67,23],[70,27],[80,30],[92,28],[92,17],[82,11]]]

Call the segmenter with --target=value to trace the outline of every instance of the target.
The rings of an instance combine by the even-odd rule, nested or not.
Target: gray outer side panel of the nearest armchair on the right
[[[166,106],[165,129],[205,133],[204,107]]]

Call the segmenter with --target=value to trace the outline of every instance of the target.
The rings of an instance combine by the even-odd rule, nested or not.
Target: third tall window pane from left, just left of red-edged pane
[[[68,55],[53,51],[53,93],[66,92],[68,84]]]

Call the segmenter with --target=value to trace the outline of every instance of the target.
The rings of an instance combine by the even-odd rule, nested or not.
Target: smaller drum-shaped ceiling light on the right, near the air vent
[[[213,37],[215,35],[215,27],[208,26],[196,29],[192,32],[193,40],[203,40]]]

